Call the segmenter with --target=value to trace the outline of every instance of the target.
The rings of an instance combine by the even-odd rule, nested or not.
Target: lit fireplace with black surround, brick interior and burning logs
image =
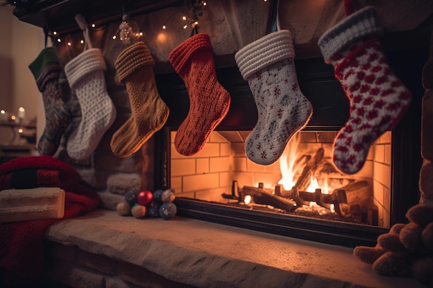
[[[313,117],[288,143],[282,156],[286,159],[270,166],[245,155],[257,108],[236,67],[217,68],[219,81],[232,96],[230,111],[203,150],[189,157],[174,148],[176,128],[188,111],[187,91],[177,75],[157,75],[157,81],[165,83],[161,97],[176,108],[156,137],[157,146],[163,147],[156,183],[175,189],[180,215],[349,247],[374,246],[378,235],[405,222],[405,211],[418,203],[421,168],[418,107],[423,88],[421,74],[414,71],[422,70],[427,51],[392,50],[386,55],[414,99],[399,124],[374,142],[355,175],[343,175],[332,164],[333,139],[349,117],[349,102],[323,59],[295,61],[301,90],[313,103]],[[174,94],[177,97],[167,96]],[[296,162],[295,167],[290,162]],[[288,174],[292,182],[284,179]],[[302,189],[296,189],[299,182]]]

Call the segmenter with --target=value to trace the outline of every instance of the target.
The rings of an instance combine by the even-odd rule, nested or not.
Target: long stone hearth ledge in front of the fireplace
[[[44,237],[194,287],[425,288],[377,275],[351,248],[179,216],[136,219],[99,209],[56,222]]]

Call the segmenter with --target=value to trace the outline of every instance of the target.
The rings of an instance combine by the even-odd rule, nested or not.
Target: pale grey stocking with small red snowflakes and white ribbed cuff
[[[245,144],[248,159],[257,164],[276,162],[313,112],[297,82],[294,57],[289,30],[272,32],[234,55],[259,113]]]

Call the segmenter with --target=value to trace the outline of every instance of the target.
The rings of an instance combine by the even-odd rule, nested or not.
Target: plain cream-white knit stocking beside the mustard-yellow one
[[[101,52],[95,49],[86,50],[72,59],[66,73],[71,87],[75,89],[82,114],[80,124],[66,143],[66,151],[74,160],[89,157],[116,119],[116,108],[105,84],[105,64],[101,63]]]

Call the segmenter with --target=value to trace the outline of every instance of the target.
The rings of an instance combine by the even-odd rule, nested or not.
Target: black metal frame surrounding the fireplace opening
[[[407,222],[405,212],[417,204],[419,199],[418,173],[422,164],[421,71],[427,59],[427,50],[392,50],[385,54],[394,73],[414,94],[408,111],[392,131],[392,225]],[[230,111],[216,130],[251,130],[257,122],[257,108],[248,83],[241,78],[231,57],[232,55],[225,55],[215,59],[216,63],[220,64],[216,69],[217,77],[232,96]],[[295,67],[300,88],[313,104],[313,117],[304,130],[338,131],[349,117],[349,102],[333,75],[333,67],[324,64],[322,58],[295,60]],[[169,187],[169,135],[170,131],[175,131],[185,119],[189,97],[183,80],[176,73],[156,75],[156,81],[161,97],[170,108],[170,116],[165,128],[156,134],[158,149],[155,159],[155,183],[157,186]],[[365,224],[250,211],[185,198],[177,198],[175,203],[178,215],[347,247],[374,246],[378,236],[389,231]]]

